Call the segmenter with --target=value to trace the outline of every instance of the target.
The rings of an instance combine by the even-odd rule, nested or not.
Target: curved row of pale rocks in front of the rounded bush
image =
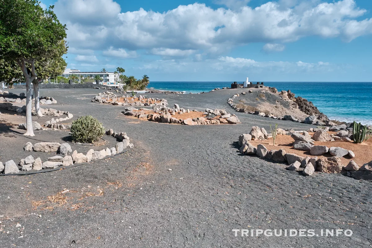
[[[41,170],[46,170],[45,172],[48,172],[51,170],[47,169],[66,168],[70,165],[80,165],[86,162],[108,158],[108,156],[122,153],[125,148],[134,147],[134,145],[130,143],[129,137],[125,132],[117,133],[113,132],[112,129],[109,129],[106,131],[106,135],[113,136],[114,138],[121,140],[121,142],[118,142],[115,147],[102,149],[100,151],[90,149],[86,154],[78,153],[77,150],[72,151],[71,146],[68,143],[60,144],[58,142],[39,142],[32,145],[31,142],[27,142],[23,148],[25,151],[56,152],[57,155],[48,158],[48,161],[44,162],[41,161],[41,158],[34,159],[32,155],[30,155],[19,162],[20,169],[13,160],[5,162],[4,165],[0,162],[0,173],[4,173],[0,175],[15,175],[15,173],[19,174],[20,171],[31,170],[35,170],[36,172],[26,172],[19,175],[39,173],[38,171]]]

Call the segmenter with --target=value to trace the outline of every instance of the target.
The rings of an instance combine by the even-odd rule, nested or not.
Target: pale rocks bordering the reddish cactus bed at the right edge
[[[279,130],[279,135],[283,134],[280,133],[281,130]],[[317,132],[319,132],[317,135],[315,135],[315,133],[313,135],[315,139],[324,135],[325,131],[322,130]],[[294,148],[299,149],[295,146],[308,144],[311,146],[310,149],[300,148],[299,150],[310,151],[310,154],[315,157],[302,157],[296,154],[286,153],[285,149],[269,150],[262,144],[257,145],[257,147],[250,144],[252,139],[267,139],[268,135],[265,133],[266,131],[264,128],[260,129],[256,126],[252,127],[250,134],[245,133],[240,135],[238,138],[238,145],[240,146],[239,152],[247,155],[257,155],[267,161],[287,162],[289,166],[286,170],[290,171],[299,171],[299,168],[304,168],[302,171],[303,175],[312,175],[315,171],[320,171],[323,173],[342,173],[356,179],[372,180],[372,161],[364,164],[360,168],[353,160],[350,160],[347,165],[341,163],[341,157],[346,155],[350,158],[354,158],[355,154],[353,151],[348,151],[341,147],[328,148],[327,146],[314,146],[314,140],[311,139],[311,136],[306,131],[304,131],[302,135],[300,133],[291,134],[291,137],[294,139]],[[329,134],[327,133],[327,135]],[[327,139],[329,138],[327,137]],[[327,152],[333,157],[317,157]]]

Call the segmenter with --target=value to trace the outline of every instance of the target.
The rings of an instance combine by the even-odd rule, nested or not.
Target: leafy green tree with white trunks
[[[45,77],[56,75],[50,70],[65,66],[62,55],[67,53],[68,48],[64,40],[66,26],[54,14],[54,6],[44,10],[37,0],[0,0],[0,6],[0,74],[4,70],[9,82],[12,81],[9,70],[13,68],[16,72],[15,65],[20,68],[26,81],[27,132],[24,135],[35,136],[32,128],[31,84],[34,88],[35,112],[42,116],[39,83]],[[17,76],[19,74],[15,73],[14,78]]]

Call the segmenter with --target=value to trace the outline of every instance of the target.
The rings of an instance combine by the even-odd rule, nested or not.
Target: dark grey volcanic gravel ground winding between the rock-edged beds
[[[238,136],[253,125],[310,125],[244,113],[236,113],[240,125],[161,124],[125,117],[122,106],[90,102],[99,90],[41,91],[57,100],[52,108],[73,119],[93,115],[105,128],[125,131],[135,148],[62,171],[0,177],[0,247],[371,247],[371,182],[339,174],[304,177],[237,152]],[[169,106],[233,113],[226,100],[240,92],[149,96]],[[46,139],[43,132],[35,138]],[[27,138],[10,149],[4,135],[2,162],[28,155],[22,149]],[[235,237],[232,231],[339,228],[353,235]]]

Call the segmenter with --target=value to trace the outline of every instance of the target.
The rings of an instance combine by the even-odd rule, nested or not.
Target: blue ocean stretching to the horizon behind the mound
[[[231,83],[152,81],[148,87],[199,93],[230,87]],[[314,103],[329,119],[345,122],[356,120],[364,125],[372,125],[372,82],[264,82],[264,85],[275,87],[278,91],[291,90],[296,96]]]

